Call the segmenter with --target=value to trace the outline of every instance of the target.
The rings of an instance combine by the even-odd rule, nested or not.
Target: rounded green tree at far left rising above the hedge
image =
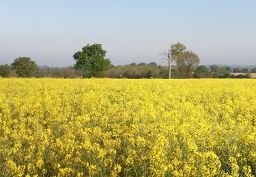
[[[18,76],[28,78],[38,69],[38,65],[35,61],[31,61],[29,57],[19,57],[12,63],[12,69],[15,70]]]

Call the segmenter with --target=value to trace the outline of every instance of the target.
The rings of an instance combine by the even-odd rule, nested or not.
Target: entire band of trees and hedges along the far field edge
[[[72,67],[38,67],[29,57],[19,57],[11,65],[0,65],[0,76],[10,77],[51,77],[51,78],[250,78],[248,73],[256,72],[231,69],[211,65],[199,65],[198,55],[181,43],[171,44],[167,51],[160,54],[167,61],[167,66],[152,63],[130,63],[130,65],[114,66],[106,59],[106,50],[101,44],[87,45],[73,55],[76,61]],[[234,76],[231,72],[247,73]]]

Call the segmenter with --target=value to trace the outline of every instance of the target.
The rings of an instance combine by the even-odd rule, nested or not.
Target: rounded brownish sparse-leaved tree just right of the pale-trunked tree
[[[193,71],[200,63],[197,54],[192,51],[186,51],[177,58],[177,68],[180,71],[182,78],[192,78]]]

